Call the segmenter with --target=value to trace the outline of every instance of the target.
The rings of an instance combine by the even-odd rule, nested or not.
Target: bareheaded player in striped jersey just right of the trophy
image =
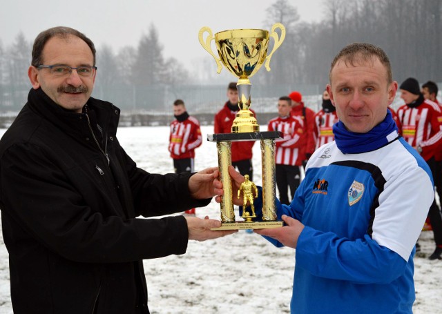
[[[278,100],[278,117],[269,121],[269,131],[280,131],[284,138],[276,139],[276,186],[280,202],[290,204],[288,187],[290,188],[291,199],[300,184],[300,169],[303,155],[300,154],[300,147],[305,144],[305,137],[302,137],[303,120],[300,117],[290,115],[291,99],[282,96]]]

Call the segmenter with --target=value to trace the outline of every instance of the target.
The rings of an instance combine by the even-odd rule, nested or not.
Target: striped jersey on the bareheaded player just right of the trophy
[[[278,165],[301,166],[305,159],[300,154],[300,148],[305,145],[303,137],[303,124],[301,117],[277,117],[269,121],[267,130],[280,131],[284,138],[276,139],[275,161]]]

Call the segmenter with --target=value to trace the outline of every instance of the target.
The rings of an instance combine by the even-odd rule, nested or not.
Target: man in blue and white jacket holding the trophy
[[[293,202],[278,206],[287,226],[256,233],[296,248],[291,313],[412,313],[432,175],[387,110],[398,84],[383,50],[343,48],[329,79],[335,141],[311,156]]]

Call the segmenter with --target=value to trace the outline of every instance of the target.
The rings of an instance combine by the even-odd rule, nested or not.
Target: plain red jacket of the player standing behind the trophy
[[[256,117],[256,113],[253,110],[251,112]],[[224,104],[224,107],[215,115],[215,134],[231,133],[233,120],[237,113],[238,111],[230,110],[227,103]],[[232,161],[251,159],[253,144],[255,144],[255,141],[232,141]]]

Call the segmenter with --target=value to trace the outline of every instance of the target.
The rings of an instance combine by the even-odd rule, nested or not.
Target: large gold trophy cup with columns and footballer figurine
[[[281,35],[275,31],[280,29]],[[209,35],[204,41],[203,35],[208,32]],[[274,39],[273,50],[267,56],[267,47],[269,38]],[[238,29],[224,30],[217,32],[215,37],[208,27],[201,28],[198,39],[201,45],[215,59],[218,66],[217,72],[220,73],[222,64],[233,75],[238,77],[238,105],[240,111],[237,113],[232,133],[208,135],[209,141],[215,141],[218,148],[218,168],[220,169],[220,180],[224,187],[224,195],[221,197],[221,222],[220,228],[213,230],[236,230],[236,229],[261,229],[277,228],[282,226],[282,222],[277,220],[275,208],[275,139],[282,137],[280,132],[259,132],[260,127],[253,112],[249,110],[251,105],[251,84],[249,77],[253,76],[265,64],[267,71],[270,70],[270,59],[276,49],[279,48],[285,39],[285,27],[276,23],[271,28],[271,33],[267,30],[257,29]],[[211,50],[211,41],[215,40],[218,50],[216,57]],[[235,212],[233,210],[233,192],[232,182],[229,175],[229,166],[231,166],[231,141],[258,141],[261,143],[262,157],[262,220],[255,221],[255,209],[253,199],[257,193],[253,186],[255,184],[246,177],[247,186],[241,186],[238,191],[243,194],[244,208],[242,218],[244,221],[236,222]],[[245,177],[245,176],[244,176]],[[244,183],[246,183],[244,182]],[[255,186],[256,188],[256,186]],[[237,195],[235,195],[236,197]],[[251,213],[246,210],[246,204],[251,207]]]

